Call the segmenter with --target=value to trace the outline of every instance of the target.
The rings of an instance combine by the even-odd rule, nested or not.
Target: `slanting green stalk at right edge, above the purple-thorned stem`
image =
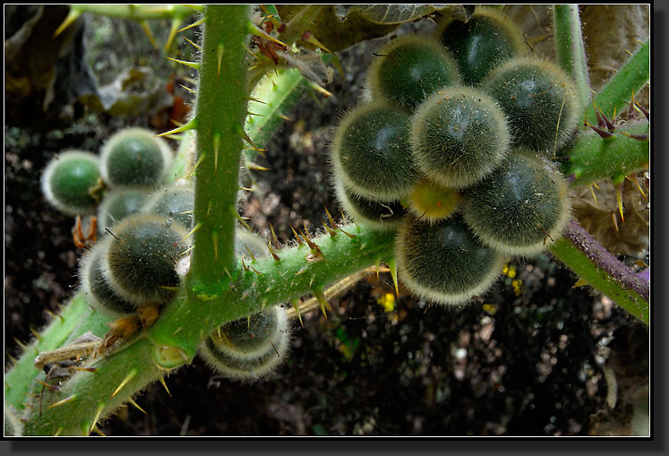
[[[630,103],[632,94],[641,90],[650,78],[650,37],[630,56],[593,99],[597,108],[609,118],[620,114]],[[616,116],[617,116],[616,114]],[[588,123],[596,125],[595,108],[588,108]]]

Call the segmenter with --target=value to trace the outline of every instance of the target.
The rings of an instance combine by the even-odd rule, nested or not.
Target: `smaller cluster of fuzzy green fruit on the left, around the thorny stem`
[[[97,214],[99,241],[83,255],[79,276],[80,291],[102,313],[152,315],[176,297],[187,271],[194,193],[189,182],[167,184],[172,161],[167,142],[128,128],[109,138],[99,156],[58,154],[42,175],[47,201],[57,209]],[[235,250],[240,257],[247,250],[268,254],[262,239],[241,229]],[[256,379],[285,358],[289,340],[285,311],[275,306],[219,328],[199,353],[219,374]]]

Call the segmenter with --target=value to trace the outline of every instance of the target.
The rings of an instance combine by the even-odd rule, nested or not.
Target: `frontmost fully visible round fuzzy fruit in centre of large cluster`
[[[412,121],[416,165],[445,187],[459,189],[481,180],[502,162],[509,142],[509,128],[497,103],[469,87],[435,93]]]

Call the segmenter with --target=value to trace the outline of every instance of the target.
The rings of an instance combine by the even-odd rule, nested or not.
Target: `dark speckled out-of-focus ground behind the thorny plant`
[[[94,21],[86,31],[89,39],[105,24],[113,33],[91,47],[91,67],[105,62],[107,47],[119,63],[98,64],[103,73],[147,56],[164,60],[134,22]],[[112,46],[119,40],[114,33],[133,47],[121,52]],[[323,205],[339,212],[326,159],[331,125],[355,106],[364,68],[378,45],[343,52],[346,76],[336,74],[327,87],[336,98],[304,98],[274,134],[266,158],[258,159],[270,172],[256,175],[259,190],[242,207],[257,232],[266,234],[271,223],[285,242],[292,237],[288,224],[306,223],[313,230],[325,218]],[[190,52],[186,46],[180,52]],[[162,68],[155,77],[167,83],[173,71]],[[188,97],[185,91],[181,95]],[[21,352],[18,341],[30,340],[31,329],[47,323],[46,311],[56,312],[77,287],[82,251],[73,245],[73,219],[48,206],[39,188],[47,160],[68,148],[98,151],[123,126],[155,127],[157,114],[80,110],[65,124],[19,126],[11,118],[5,124],[5,368]],[[387,311],[378,298],[393,291],[390,276],[374,275],[334,300],[335,312],[327,320],[320,311],[305,315],[304,328],[294,326],[287,363],[270,379],[230,382],[196,358],[167,378],[169,394],[160,384],[142,392],[137,402],[146,414],[122,409],[100,430],[107,435],[632,434],[639,429],[632,426],[639,409],[648,411],[648,329],[588,287],[573,288],[576,281],[541,255],[510,262],[510,272],[490,293],[463,308],[429,305],[400,292]]]

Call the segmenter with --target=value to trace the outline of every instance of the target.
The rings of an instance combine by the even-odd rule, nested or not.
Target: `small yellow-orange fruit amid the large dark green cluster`
[[[455,190],[421,179],[408,196],[407,207],[416,218],[434,222],[450,217],[458,201],[459,194]]]

